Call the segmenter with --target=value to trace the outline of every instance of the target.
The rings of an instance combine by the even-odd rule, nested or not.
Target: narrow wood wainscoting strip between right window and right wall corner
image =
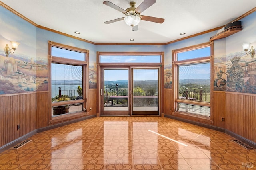
[[[214,126],[225,128],[226,119],[226,93],[224,91],[213,92],[213,121]],[[224,118],[224,121],[222,120]]]

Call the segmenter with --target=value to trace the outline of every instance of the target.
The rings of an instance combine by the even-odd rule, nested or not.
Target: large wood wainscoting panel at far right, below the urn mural
[[[226,129],[253,142],[256,142],[255,100],[252,94],[226,92]]]

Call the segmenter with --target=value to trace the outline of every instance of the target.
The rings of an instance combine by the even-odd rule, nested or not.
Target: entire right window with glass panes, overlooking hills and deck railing
[[[176,114],[210,119],[210,56],[210,43],[173,51]]]

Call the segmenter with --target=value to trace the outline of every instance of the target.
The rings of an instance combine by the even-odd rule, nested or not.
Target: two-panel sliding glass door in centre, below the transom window
[[[102,68],[101,84],[101,115],[159,115],[158,68]]]

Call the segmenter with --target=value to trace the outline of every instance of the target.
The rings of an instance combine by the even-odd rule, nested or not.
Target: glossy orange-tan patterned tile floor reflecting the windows
[[[0,169],[256,169],[256,149],[232,139],[164,117],[97,117],[33,135],[0,154]]]

